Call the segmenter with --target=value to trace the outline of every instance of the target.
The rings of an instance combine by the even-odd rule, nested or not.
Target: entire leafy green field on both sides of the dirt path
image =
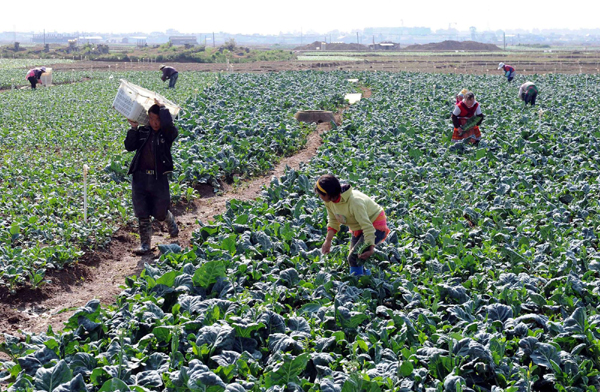
[[[600,390],[597,76],[531,76],[539,105],[524,108],[518,84],[500,76],[228,74],[183,105],[173,189],[264,172],[262,159],[289,154],[312,129],[292,114],[343,105],[347,78],[372,97],[344,112],[301,169],[256,201],[232,200],[191,248],[163,247],[113,306],[91,300],[60,333],[5,335],[8,390]],[[33,102],[38,112],[79,105],[85,86],[94,84]],[[486,116],[478,146],[450,142],[453,96],[465,87]],[[30,97],[1,96],[11,108]],[[57,249],[76,252],[86,230],[110,238],[102,225],[115,209],[131,215],[122,120],[85,107],[90,121],[64,114],[44,126],[2,105],[5,267],[31,260],[14,255],[42,244],[44,225],[57,228],[47,231]],[[74,206],[81,145],[101,162],[87,226]],[[372,276],[348,275],[344,230],[320,254],[326,212],[313,185],[324,173],[386,210],[392,233],[368,261]]]

